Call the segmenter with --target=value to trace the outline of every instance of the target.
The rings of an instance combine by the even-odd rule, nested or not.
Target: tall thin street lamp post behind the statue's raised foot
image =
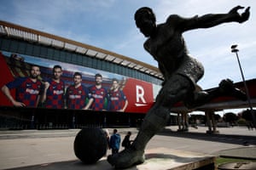
[[[250,110],[251,110],[251,114],[252,114],[252,117],[253,117],[253,125],[254,127],[256,127],[256,120],[255,120],[255,116],[253,114],[253,106],[252,106],[252,103],[251,103],[251,98],[250,98],[250,95],[249,95],[249,91],[248,91],[248,88],[247,88],[247,83],[245,81],[245,78],[243,76],[243,72],[241,70],[241,63],[240,63],[240,60],[239,60],[239,57],[238,57],[238,49],[237,49],[237,45],[232,45],[231,46],[231,52],[232,53],[236,53],[236,59],[237,59],[237,62],[238,62],[238,65],[239,65],[239,68],[240,68],[240,71],[241,71],[241,78],[242,78],[242,82],[244,84],[244,88],[246,90],[246,94],[247,94],[247,100],[248,100],[248,105],[250,107]]]

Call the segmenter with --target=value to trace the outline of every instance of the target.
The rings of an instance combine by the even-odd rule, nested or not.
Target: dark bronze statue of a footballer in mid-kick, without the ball
[[[238,10],[242,8],[236,6],[227,14],[195,15],[192,18],[172,14],[165,23],[159,25],[156,25],[156,18],[151,8],[143,7],[137,10],[134,15],[136,25],[143,35],[148,37],[143,46],[158,61],[165,81],[131,147],[108,156],[108,162],[113,167],[126,168],[143,163],[148,141],[166,126],[175,103],[183,101],[187,107],[195,107],[222,95],[247,99],[243,92],[234,88],[230,79],[221,81],[218,88],[210,92],[195,91],[195,84],[203,76],[204,68],[199,61],[190,56],[183,39],[185,31],[210,28],[228,22],[245,22],[249,18],[249,7],[239,14]]]

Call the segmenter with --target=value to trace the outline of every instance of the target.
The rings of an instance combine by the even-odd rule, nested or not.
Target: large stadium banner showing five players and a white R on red
[[[160,89],[108,71],[9,52],[0,54],[0,75],[0,106],[146,113]]]

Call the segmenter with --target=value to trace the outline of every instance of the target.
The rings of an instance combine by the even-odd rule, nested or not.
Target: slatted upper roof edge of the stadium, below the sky
[[[160,70],[137,59],[131,59],[125,55],[116,54],[102,48],[96,48],[89,44],[73,41],[65,37],[58,37],[43,31],[33,30],[25,26],[19,26],[0,20],[0,34],[8,37],[23,38],[27,41],[50,45],[55,48],[64,48],[79,54],[86,54],[97,59],[104,59],[117,65],[128,66],[131,69],[144,72],[154,77],[163,79]]]

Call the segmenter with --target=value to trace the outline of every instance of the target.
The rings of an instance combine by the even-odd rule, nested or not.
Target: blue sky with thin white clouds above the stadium
[[[245,78],[256,77],[255,0],[2,0],[0,20],[84,42],[157,66],[143,49],[145,37],[135,26],[133,14],[137,8],[153,8],[159,24],[165,22],[170,14],[192,17],[195,14],[227,13],[236,5],[251,7],[251,17],[246,23],[228,23],[183,34],[190,54],[205,67],[205,75],[199,85],[201,88],[213,88],[227,77],[241,82],[236,55],[230,52],[232,44],[238,44]]]

